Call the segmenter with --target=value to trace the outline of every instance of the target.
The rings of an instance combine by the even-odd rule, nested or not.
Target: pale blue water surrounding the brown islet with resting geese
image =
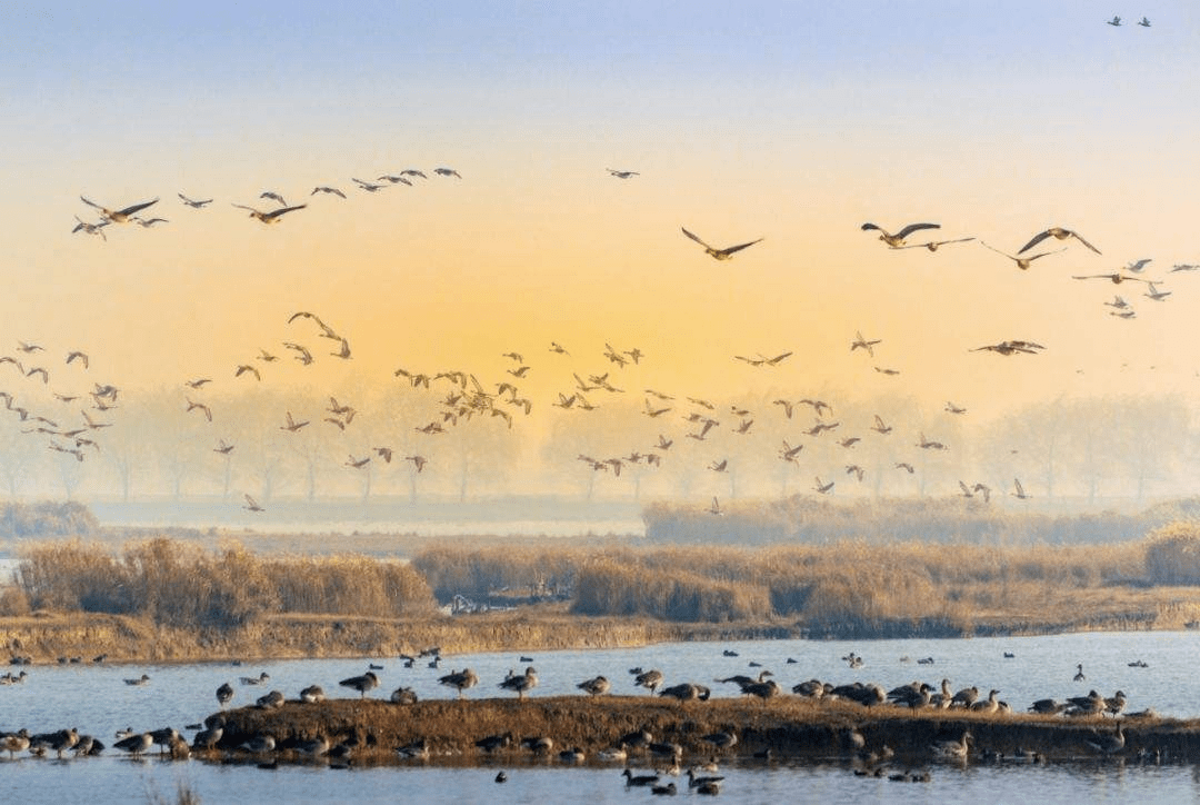
[[[722,655],[724,650],[737,657]],[[865,657],[859,669],[850,669],[841,657],[850,651]],[[1014,658],[1004,658],[1004,652]],[[1129,698],[1129,709],[1153,706],[1164,715],[1200,717],[1200,680],[1193,663],[1200,657],[1200,634],[1194,632],[1121,632],[1064,634],[1030,638],[976,638],[966,640],[869,640],[804,642],[755,640],[731,643],[682,643],[602,651],[533,652],[541,684],[533,697],[580,694],[575,685],[596,674],[613,681],[614,693],[635,693],[628,669],[636,666],[660,668],[666,682],[710,684],[714,696],[737,694],[733,685],[713,684],[716,676],[756,672],[749,663],[770,668],[785,688],[810,679],[848,682],[875,681],[893,687],[922,679],[937,684],[943,676],[955,688],[978,685],[996,687],[1001,698],[1024,710],[1043,697],[1084,694],[1096,687],[1111,696],[1116,688]],[[792,657],[796,663],[787,663]],[[901,661],[907,657],[908,661]],[[917,664],[934,657],[934,664]],[[1130,668],[1140,660],[1148,668]],[[460,655],[448,657],[439,669],[407,669],[392,658],[371,658],[383,664],[377,672],[386,696],[400,685],[416,690],[421,698],[449,698],[454,693],[437,684],[451,668],[472,667],[480,684],[468,698],[497,696],[496,685],[508,670],[521,670],[521,652]],[[31,732],[76,726],[109,745],[115,731],[137,731],[166,724],[182,727],[200,721],[216,709],[214,691],[224,681],[236,688],[234,704],[246,704],[269,690],[295,697],[301,687],[319,684],[338,696],[337,680],[362,673],[368,660],[302,660],[247,663],[200,663],[176,666],[53,666],[28,668],[22,685],[0,688],[0,729],[28,727]],[[1086,680],[1072,681],[1075,664],[1084,664]],[[266,672],[263,686],[239,684],[240,676]],[[143,673],[145,686],[130,686],[125,678]],[[644,694],[644,693],[643,693]],[[185,783],[205,803],[334,803],[358,805],[422,801],[456,803],[626,803],[644,799],[648,792],[626,789],[620,767],[586,765],[562,768],[554,762],[503,761],[481,767],[445,767],[398,763],[372,768],[331,769],[323,764],[281,765],[262,770],[253,765],[217,764],[192,759],[167,762],[158,758],[131,759],[112,750],[84,759],[36,759],[19,757],[0,761],[0,801],[77,801],[86,797],[97,803],[149,801],[151,794],[172,799]],[[504,768],[509,781],[493,782]],[[1190,765],[1141,767],[1118,759],[1049,765],[984,765],[972,763],[932,767],[928,783],[892,782],[887,779],[857,777],[848,764],[763,764],[746,759],[726,765],[721,795],[738,803],[800,801],[1128,801],[1154,799],[1184,801],[1200,799],[1200,782]],[[676,781],[686,793],[686,777]]]

